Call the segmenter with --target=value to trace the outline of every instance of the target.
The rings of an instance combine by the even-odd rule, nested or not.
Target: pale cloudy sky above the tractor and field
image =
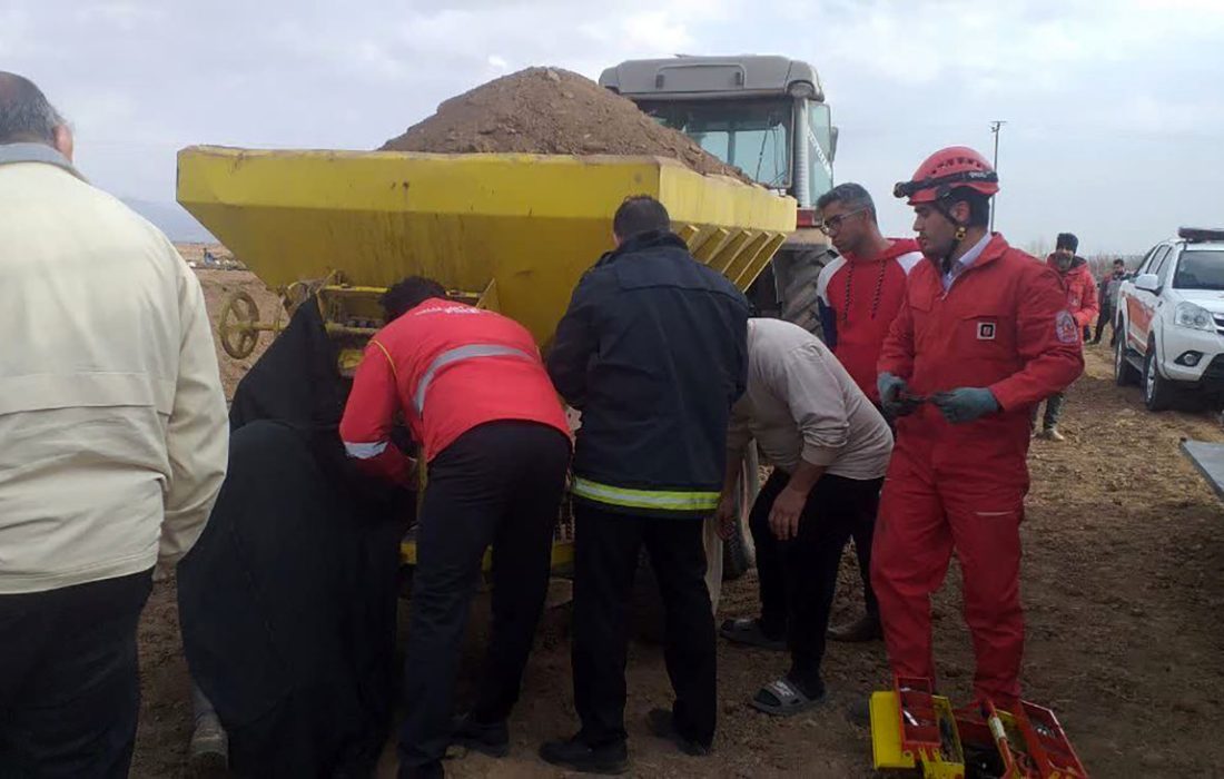
[[[190,143],[373,148],[530,65],[783,54],[820,72],[837,179],[886,231],[909,234],[894,181],[942,146],[989,154],[1002,119],[996,228],[1084,254],[1224,225],[1222,42],[1224,0],[0,0],[0,70],[129,198],[173,201]]]

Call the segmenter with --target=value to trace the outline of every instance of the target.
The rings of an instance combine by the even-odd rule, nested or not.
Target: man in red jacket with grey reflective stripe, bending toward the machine
[[[452,741],[509,748],[506,718],[543,609],[569,426],[531,334],[414,277],[383,296],[340,423],[364,469],[411,485],[392,442],[403,415],[428,463],[416,530],[400,777],[441,777]],[[493,548],[493,627],[476,707],[452,723],[468,608]]]

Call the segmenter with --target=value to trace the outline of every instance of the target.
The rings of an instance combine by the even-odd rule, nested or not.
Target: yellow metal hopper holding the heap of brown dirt
[[[541,344],[633,194],[662,201],[690,246],[726,230],[701,257],[718,269],[748,233],[772,245],[794,230],[793,200],[655,157],[179,152],[179,202],[269,287],[333,272],[371,288],[411,274],[452,289],[496,282],[498,307]],[[769,258],[743,257],[736,278],[750,282]]]

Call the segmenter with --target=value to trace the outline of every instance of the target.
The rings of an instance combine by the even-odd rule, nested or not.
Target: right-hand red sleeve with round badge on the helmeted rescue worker
[[[1016,347],[1024,367],[990,387],[1004,409],[1062,392],[1083,372],[1082,326],[1066,309],[1066,290],[1054,271],[1033,271],[1017,284]]]

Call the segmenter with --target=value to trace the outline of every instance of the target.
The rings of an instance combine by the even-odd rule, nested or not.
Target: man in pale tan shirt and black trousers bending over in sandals
[[[824,698],[820,663],[842,549],[870,538],[892,434],[827,347],[780,320],[748,321],[748,390],[732,409],[727,475],[717,517],[734,522],[732,486],[755,440],[774,465],[749,516],[761,616],[728,620],[737,643],[791,650],[791,670],[752,706],[791,715]]]

